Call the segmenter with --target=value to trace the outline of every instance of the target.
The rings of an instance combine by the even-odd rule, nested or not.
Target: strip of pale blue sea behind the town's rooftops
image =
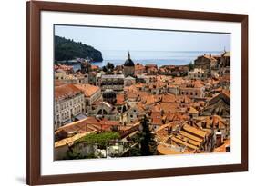
[[[103,61],[92,64],[102,67],[108,62],[116,65],[125,63],[128,51],[125,50],[105,50],[101,51]],[[162,65],[184,65],[193,63],[194,60],[203,54],[219,55],[223,51],[129,51],[130,58],[135,64],[157,64]],[[73,64],[74,70],[80,69],[80,64]]]

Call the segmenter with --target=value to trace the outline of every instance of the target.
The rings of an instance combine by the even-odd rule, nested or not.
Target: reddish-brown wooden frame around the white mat
[[[27,126],[26,126],[26,181],[27,184],[52,184],[80,181],[110,181],[154,178],[192,174],[248,171],[248,15],[194,12],[181,10],[85,5],[42,1],[27,2]],[[109,171],[42,176],[40,171],[41,119],[41,64],[40,13],[60,11],[101,15],[130,15],[143,17],[179,18],[190,20],[225,21],[241,23],[241,164],[213,165],[188,168],[165,168],[137,171]]]

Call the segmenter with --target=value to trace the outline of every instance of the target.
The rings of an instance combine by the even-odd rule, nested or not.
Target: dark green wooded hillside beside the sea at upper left
[[[103,60],[101,52],[92,46],[55,36],[55,60],[66,61],[75,58],[91,59],[94,62]]]

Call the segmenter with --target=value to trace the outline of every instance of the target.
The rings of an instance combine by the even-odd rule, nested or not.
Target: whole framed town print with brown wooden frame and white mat
[[[27,2],[27,184],[248,170],[248,15]]]

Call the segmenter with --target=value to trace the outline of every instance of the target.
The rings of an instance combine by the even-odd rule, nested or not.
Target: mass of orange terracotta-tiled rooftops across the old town
[[[229,56],[229,53],[225,56]],[[203,57],[216,60],[211,55],[204,55]],[[128,59],[124,66],[134,67],[136,65],[138,64],[134,64],[128,53]],[[155,68],[155,66],[151,68]],[[69,68],[63,66],[63,69]],[[202,73],[203,71],[198,70],[198,72]],[[116,78],[124,78],[124,74],[115,75]],[[90,83],[64,83],[56,86],[55,99],[67,99],[79,93],[84,94],[85,97],[91,97],[95,93],[101,92],[101,98],[94,103],[97,104],[102,103],[104,99],[108,100],[109,97],[115,97],[115,103],[107,102],[111,107],[128,104],[128,109],[137,111],[138,115],[140,113],[147,114],[151,130],[158,142],[159,154],[226,151],[224,147],[230,145],[230,116],[218,115],[221,112],[216,114],[216,111],[218,109],[229,110],[227,108],[230,107],[230,90],[221,85],[222,82],[230,83],[229,75],[221,76],[218,79],[207,78],[203,81],[159,74],[148,76],[152,78],[149,83],[135,83],[124,87],[118,93],[111,89],[101,92],[100,86]],[[113,74],[103,76],[103,78],[112,77]],[[201,89],[202,87],[205,89]],[[187,94],[173,93],[174,88],[200,89],[209,94],[198,99]],[[226,110],[223,112],[230,112]],[[118,132],[123,134],[122,138],[125,138],[132,132],[138,131],[138,125],[139,117],[124,125],[120,121],[111,121],[90,115],[83,120],[69,123],[57,129],[55,146],[57,148],[63,145],[72,145],[77,139],[91,132],[111,131],[113,126],[117,126]],[[215,142],[216,130],[218,132],[222,130],[225,139],[217,146]]]

